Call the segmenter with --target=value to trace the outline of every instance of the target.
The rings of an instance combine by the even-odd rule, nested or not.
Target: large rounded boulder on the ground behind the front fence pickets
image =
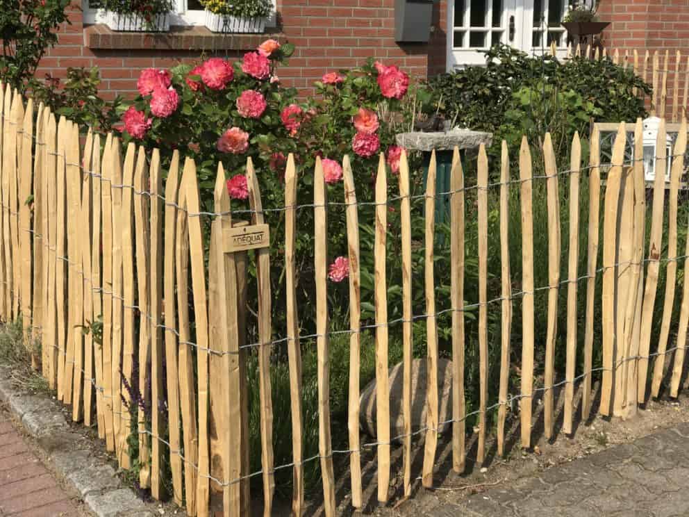
[[[411,430],[416,432],[426,426],[426,359],[414,359],[411,366]],[[404,372],[402,363],[390,368],[388,383],[390,386],[390,436],[396,438],[404,434],[404,416],[402,413],[402,388]],[[438,422],[447,422],[452,418],[452,361],[438,360]],[[373,379],[361,393],[360,399],[361,427],[376,437],[376,379]],[[449,424],[439,426],[440,432],[449,429]]]

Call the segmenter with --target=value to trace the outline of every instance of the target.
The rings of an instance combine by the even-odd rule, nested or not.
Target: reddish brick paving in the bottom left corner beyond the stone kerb
[[[82,515],[0,410],[0,516]]]

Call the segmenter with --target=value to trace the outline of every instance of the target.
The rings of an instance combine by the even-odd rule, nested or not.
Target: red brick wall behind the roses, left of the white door
[[[424,78],[429,72],[445,69],[445,3],[435,4],[434,30],[429,44],[395,42],[395,0],[282,0],[278,10],[282,32],[275,37],[297,46],[289,65],[281,67],[278,75],[285,85],[294,85],[304,96],[313,94],[310,85],[325,72],[360,65],[370,56],[397,64],[416,77]],[[110,98],[118,94],[131,97],[136,79],[146,67],[192,63],[202,53],[242,56],[263,39],[244,38],[246,44],[230,45],[233,49],[216,52],[204,51],[204,45],[213,48],[213,42],[207,39],[204,40],[207,44],[194,44],[191,51],[93,49],[85,45],[81,10],[74,8],[70,19],[72,24],[60,30],[58,44],[42,60],[39,74],[63,78],[67,67],[98,66],[101,94]]]

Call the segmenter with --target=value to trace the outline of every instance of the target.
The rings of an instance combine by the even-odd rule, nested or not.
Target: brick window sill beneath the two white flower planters
[[[275,32],[217,34],[204,26],[172,26],[167,33],[126,33],[96,24],[84,28],[84,43],[94,50],[251,50],[267,38],[281,38],[277,29],[272,30]]]

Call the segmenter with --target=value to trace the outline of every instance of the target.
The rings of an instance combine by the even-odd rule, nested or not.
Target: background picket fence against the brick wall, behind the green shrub
[[[551,47],[551,54],[557,55],[556,48]],[[592,49],[577,45],[567,47],[567,58],[586,56],[587,58],[610,58],[615,65],[624,69],[633,69],[643,81],[649,83],[653,92],[649,99],[651,116],[666,118],[679,122],[689,106],[689,56],[682,56],[681,51],[653,52],[638,49]]]

